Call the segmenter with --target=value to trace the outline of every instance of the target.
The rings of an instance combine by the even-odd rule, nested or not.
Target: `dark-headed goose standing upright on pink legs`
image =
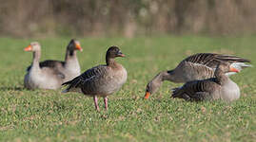
[[[85,95],[93,97],[97,111],[99,111],[97,96],[103,97],[105,109],[108,110],[108,95],[118,91],[128,78],[127,70],[114,61],[116,57],[125,57],[125,55],[117,46],[110,46],[106,54],[107,64],[92,67],[75,79],[63,83],[68,85],[63,93],[81,89]]]

